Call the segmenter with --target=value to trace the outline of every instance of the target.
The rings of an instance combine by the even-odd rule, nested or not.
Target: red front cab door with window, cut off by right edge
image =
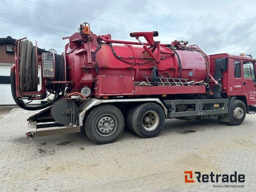
[[[243,60],[242,91],[248,95],[248,104],[256,105],[255,62]]]

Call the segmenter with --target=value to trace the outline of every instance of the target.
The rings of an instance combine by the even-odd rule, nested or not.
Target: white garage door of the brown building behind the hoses
[[[12,97],[11,84],[10,84],[10,66],[0,66],[0,105],[16,105]],[[40,70],[40,67],[38,68]],[[38,74],[39,81],[41,82],[41,74]],[[41,89],[41,83],[38,84],[38,90]],[[24,100],[28,102],[27,100]],[[32,101],[30,104],[40,104],[40,100]]]

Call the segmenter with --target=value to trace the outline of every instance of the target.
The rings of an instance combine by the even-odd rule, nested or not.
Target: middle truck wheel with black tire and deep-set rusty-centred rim
[[[164,111],[155,103],[138,105],[131,115],[132,130],[144,138],[157,136],[164,128],[164,121]]]

